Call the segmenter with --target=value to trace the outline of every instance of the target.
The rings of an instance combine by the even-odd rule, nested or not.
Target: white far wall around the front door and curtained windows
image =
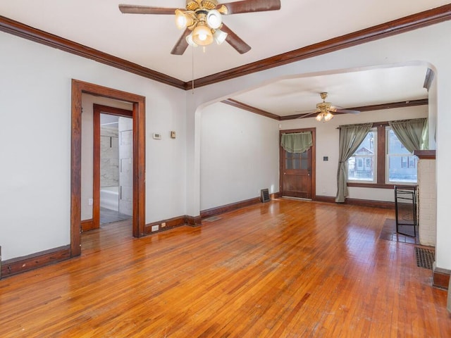
[[[316,195],[335,197],[337,193],[339,142],[339,130],[337,127],[339,125],[426,118],[427,116],[428,106],[414,106],[380,111],[364,111],[358,115],[335,115],[327,123],[318,122],[314,118],[298,118],[297,120],[281,121],[281,125],[282,129],[316,127]],[[323,156],[328,156],[327,162],[323,161]],[[349,192],[351,199],[395,201],[393,189],[350,187]]]

